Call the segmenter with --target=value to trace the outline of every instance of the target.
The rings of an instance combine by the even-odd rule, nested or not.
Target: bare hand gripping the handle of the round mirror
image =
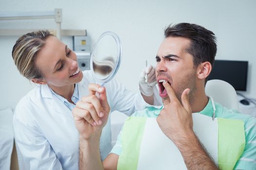
[[[100,99],[96,97],[96,92],[100,94]],[[89,93],[90,95],[82,97],[81,101],[77,102],[76,107],[72,110],[79,134],[86,140],[93,136],[99,139],[110,112],[105,87],[90,84]]]

